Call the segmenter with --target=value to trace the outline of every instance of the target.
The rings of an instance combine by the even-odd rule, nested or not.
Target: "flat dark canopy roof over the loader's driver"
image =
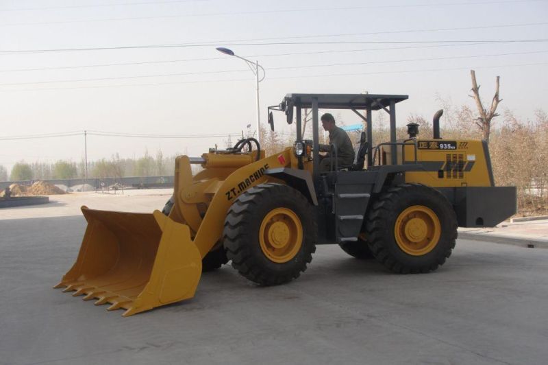
[[[368,109],[379,110],[408,99],[408,95],[379,94],[287,94],[284,101],[297,107],[312,108],[312,99],[318,99],[318,108],[324,109]]]

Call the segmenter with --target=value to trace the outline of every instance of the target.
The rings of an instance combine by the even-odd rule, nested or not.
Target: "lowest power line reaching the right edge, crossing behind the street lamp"
[[[497,69],[501,67],[521,67],[521,66],[537,66],[548,64],[548,62],[532,62],[532,63],[522,63],[522,64],[499,64],[496,66],[477,66],[477,67],[454,67],[447,69],[418,69],[418,70],[408,70],[408,71],[379,71],[379,72],[366,72],[366,73],[331,73],[324,75],[299,75],[299,76],[282,76],[269,78],[269,80],[282,80],[282,79],[292,79],[292,78],[325,78],[332,76],[349,76],[349,75],[377,75],[377,74],[390,74],[390,73],[419,73],[419,72],[429,72],[429,71],[456,71],[462,69]],[[219,83],[219,82],[240,82],[240,81],[249,81],[249,78],[245,79],[227,79],[227,80],[201,80],[201,81],[180,81],[180,82],[155,82],[147,84],[118,84],[118,85],[103,85],[103,86],[74,86],[74,87],[62,87],[62,88],[42,88],[42,89],[8,89],[0,90],[0,92],[14,92],[14,91],[51,91],[51,90],[75,90],[75,89],[105,89],[105,88],[114,88],[114,87],[134,87],[134,86],[164,86],[164,85],[180,85],[180,84],[208,84],[208,83]],[[225,134],[223,134],[225,135]]]

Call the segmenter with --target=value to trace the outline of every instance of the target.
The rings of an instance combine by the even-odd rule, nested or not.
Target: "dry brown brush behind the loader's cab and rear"
[[[444,105],[441,135],[445,139],[481,139],[474,113],[468,106]],[[379,120],[380,119],[380,120]],[[373,145],[388,141],[390,134],[384,117],[373,120]],[[419,123],[419,138],[432,136],[432,123],[421,115],[410,115],[408,121]],[[534,121],[516,118],[506,110],[493,119],[489,150],[495,185],[517,187],[518,213],[533,216],[548,214],[548,115],[536,112]],[[351,135],[352,137],[352,135]],[[358,134],[353,136],[358,138]],[[407,137],[406,127],[397,128],[397,138]],[[262,130],[262,148],[266,154],[291,145],[281,134]]]

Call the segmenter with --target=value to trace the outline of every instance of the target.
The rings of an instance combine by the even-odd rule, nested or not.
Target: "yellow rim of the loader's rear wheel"
[[[402,211],[394,226],[396,243],[409,255],[422,256],[438,244],[441,224],[432,209],[413,205]]]

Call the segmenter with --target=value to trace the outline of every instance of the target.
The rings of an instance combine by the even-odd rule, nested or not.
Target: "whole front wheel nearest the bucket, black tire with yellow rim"
[[[261,285],[297,279],[316,250],[312,205],[299,191],[261,184],[242,193],[228,211],[223,244],[232,266]]]

